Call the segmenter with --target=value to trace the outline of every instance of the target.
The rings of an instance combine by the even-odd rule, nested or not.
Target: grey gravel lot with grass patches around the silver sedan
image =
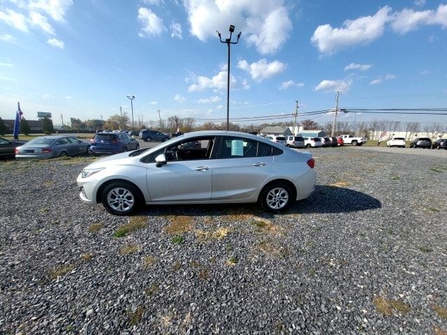
[[[446,334],[447,152],[409,151],[312,149],[281,215],[117,217],[78,198],[92,158],[1,161],[0,334]]]

